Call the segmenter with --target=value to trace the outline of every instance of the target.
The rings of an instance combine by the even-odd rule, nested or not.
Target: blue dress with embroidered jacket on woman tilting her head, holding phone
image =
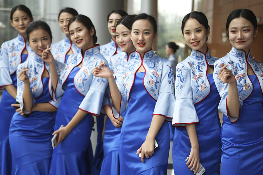
[[[80,109],[88,114],[72,129],[68,136],[53,150],[49,174],[89,174],[86,153],[92,129],[91,115],[99,116],[108,80],[95,77],[91,69],[107,61],[96,45],[82,53],[70,55],[61,76],[62,87],[56,96],[62,96],[54,130],[66,126]],[[82,67],[77,65],[82,63]],[[58,87],[59,88],[59,87]]]

